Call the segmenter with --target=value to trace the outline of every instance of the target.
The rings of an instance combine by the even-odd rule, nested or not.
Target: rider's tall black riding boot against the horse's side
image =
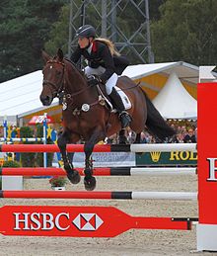
[[[122,99],[120,98],[119,94],[116,92],[115,88],[112,88],[111,93],[109,94],[111,103],[113,107],[116,109],[117,113],[119,114],[119,119],[121,122],[121,128],[127,128],[132,121],[129,114],[125,111],[124,105],[122,103]]]

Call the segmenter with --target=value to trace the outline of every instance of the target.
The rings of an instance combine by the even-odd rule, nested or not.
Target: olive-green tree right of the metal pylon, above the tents
[[[214,0],[167,0],[151,25],[155,60],[216,64],[216,10]]]

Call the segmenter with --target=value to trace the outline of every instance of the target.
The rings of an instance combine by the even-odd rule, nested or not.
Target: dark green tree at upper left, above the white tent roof
[[[66,2],[1,1],[0,82],[41,68],[40,50]]]

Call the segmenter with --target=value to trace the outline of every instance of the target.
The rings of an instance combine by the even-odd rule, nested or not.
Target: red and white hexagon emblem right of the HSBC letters
[[[96,213],[79,213],[72,222],[82,231],[97,230],[104,223]]]

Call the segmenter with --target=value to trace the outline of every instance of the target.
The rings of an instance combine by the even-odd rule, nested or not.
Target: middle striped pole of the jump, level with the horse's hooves
[[[80,175],[84,176],[84,168],[75,168],[79,171]],[[101,167],[94,168],[93,175],[94,176],[138,176],[138,175],[188,175],[195,174],[196,168],[193,167],[185,167],[185,168],[177,168],[177,167],[161,167],[161,168],[137,168],[137,167]],[[15,168],[15,167],[3,167],[0,168],[0,176],[43,176],[43,175],[57,175],[57,176],[65,176],[66,172],[63,168]]]

